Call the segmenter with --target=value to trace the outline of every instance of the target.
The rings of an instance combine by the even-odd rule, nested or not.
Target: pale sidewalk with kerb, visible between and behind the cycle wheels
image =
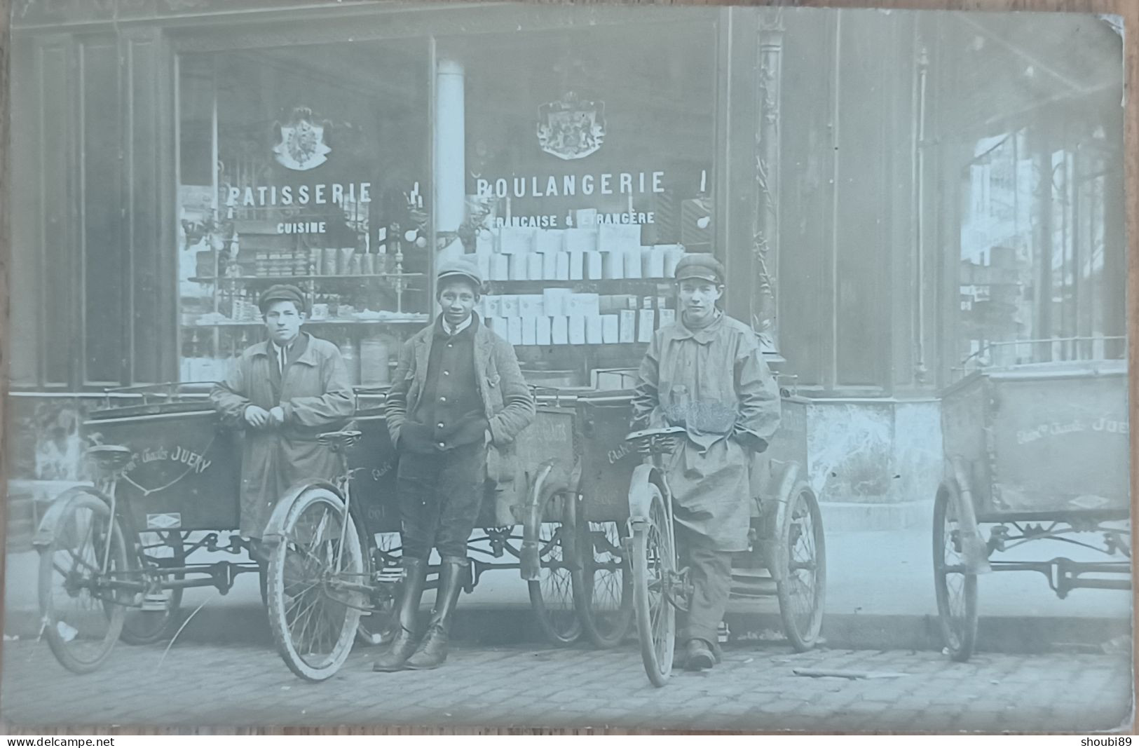
[[[831,647],[851,649],[940,650],[928,531],[833,532],[827,543],[827,603],[822,635]],[[1054,556],[1095,559],[1071,544],[1029,544],[1001,558],[1039,560]],[[229,560],[238,557],[227,556]],[[1105,557],[1099,557],[1105,558]],[[200,553],[196,561],[222,560]],[[38,634],[34,551],[7,559],[5,633]],[[425,607],[431,594],[425,595]],[[182,636],[211,643],[267,643],[268,628],[256,576],[241,575],[228,595],[213,589],[187,590],[183,610],[203,606]],[[744,607],[740,607],[744,606]],[[1076,590],[1059,600],[1040,574],[989,574],[978,578],[978,648],[1040,652],[1057,646],[1098,649],[1131,633],[1131,595],[1125,591]],[[475,592],[460,601],[456,634],[485,644],[540,641],[528,613],[526,584],[517,570],[487,572]],[[732,636],[770,639],[779,631],[775,599],[732,603]]]

